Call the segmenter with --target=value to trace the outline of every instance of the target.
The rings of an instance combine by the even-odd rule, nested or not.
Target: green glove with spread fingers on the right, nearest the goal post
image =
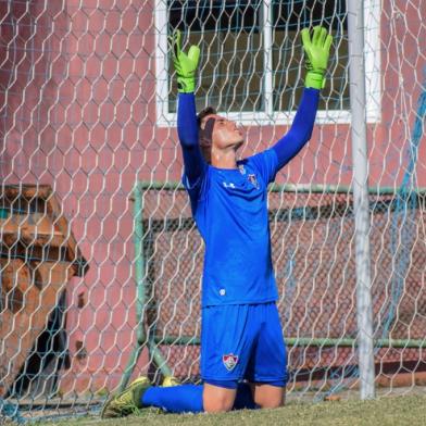
[[[306,53],[306,77],[304,79],[305,87],[314,89],[323,89],[325,86],[325,71],[327,68],[328,57],[333,37],[327,35],[327,29],[321,26],[314,27],[311,36],[308,28],[302,29],[302,43]]]

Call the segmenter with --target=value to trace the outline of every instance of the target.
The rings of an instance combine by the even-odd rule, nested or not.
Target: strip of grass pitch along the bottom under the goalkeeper
[[[41,423],[37,423],[40,425]],[[52,422],[43,423],[52,425]],[[54,423],[61,426],[146,425],[426,425],[426,396],[385,397],[371,401],[329,401],[315,404],[291,402],[277,410],[234,411],[224,414],[159,414],[143,411],[126,419],[83,417]]]

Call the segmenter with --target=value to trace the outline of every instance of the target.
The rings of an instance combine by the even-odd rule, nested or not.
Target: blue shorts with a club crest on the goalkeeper
[[[287,351],[275,302],[203,308],[201,326],[204,381],[228,388],[242,379],[287,384]]]

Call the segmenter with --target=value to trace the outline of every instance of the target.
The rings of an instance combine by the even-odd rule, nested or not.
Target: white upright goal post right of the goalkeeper
[[[348,4],[349,76],[361,399],[375,396],[363,2]]]

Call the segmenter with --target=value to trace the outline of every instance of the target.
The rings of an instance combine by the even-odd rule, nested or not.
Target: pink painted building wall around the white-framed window
[[[153,3],[0,3],[1,179],[51,185],[90,265],[84,278],[73,278],[68,286],[72,367],[63,376],[64,390],[118,383],[135,342],[131,190],[137,180],[176,181],[180,176],[176,129],[155,124],[154,66],[161,53],[155,50]],[[385,3],[383,118],[368,126],[369,184],[398,186],[426,65],[421,41],[426,38],[426,3],[398,1],[403,17],[392,25]],[[286,128],[247,130],[245,154],[251,147],[266,148]],[[422,142],[417,184],[426,186]],[[317,125],[309,147],[278,183],[349,185],[351,177],[349,126]],[[87,301],[82,309],[79,293]],[[75,356],[78,341],[87,350],[84,360]],[[146,364],[143,354],[138,372]]]

